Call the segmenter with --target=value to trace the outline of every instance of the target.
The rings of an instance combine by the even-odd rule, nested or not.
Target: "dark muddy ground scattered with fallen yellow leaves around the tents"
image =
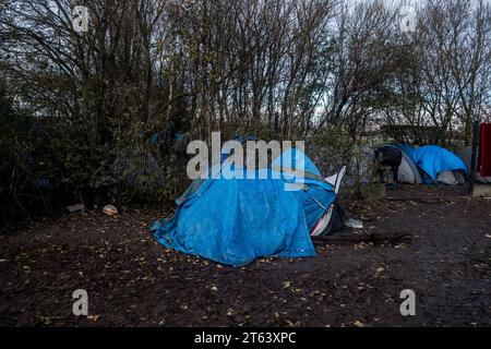
[[[161,213],[99,210],[45,219],[0,237],[3,326],[490,326],[491,200],[464,186],[403,186],[372,204],[345,200],[364,232],[410,243],[318,245],[311,258],[242,268],[167,250]],[[72,314],[88,292],[89,316]],[[416,315],[399,313],[400,291]]]

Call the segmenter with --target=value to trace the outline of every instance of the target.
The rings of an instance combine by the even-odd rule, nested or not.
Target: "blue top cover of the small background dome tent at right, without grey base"
[[[442,171],[462,170],[467,172],[464,161],[452,152],[436,145],[421,146],[412,153],[416,165],[432,180]]]

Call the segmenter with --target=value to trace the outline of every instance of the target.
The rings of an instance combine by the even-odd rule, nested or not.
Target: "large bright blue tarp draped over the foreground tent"
[[[295,163],[302,154],[284,153],[274,164],[291,164],[287,156]],[[306,161],[306,169],[315,172],[306,172],[307,191],[286,190],[298,181],[298,174],[278,172],[275,165],[255,170],[255,179],[226,179],[243,169],[225,161],[212,169],[221,170],[221,178],[195,180],[177,200],[176,214],[154,224],[155,238],[168,248],[232,266],[247,265],[261,256],[314,256],[309,233],[312,222],[336,195],[307,156]]]

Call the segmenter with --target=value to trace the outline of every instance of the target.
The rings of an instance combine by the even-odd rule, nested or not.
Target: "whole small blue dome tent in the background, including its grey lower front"
[[[445,184],[462,184],[467,168],[454,153],[436,145],[424,145],[414,152],[414,160],[430,181]]]

